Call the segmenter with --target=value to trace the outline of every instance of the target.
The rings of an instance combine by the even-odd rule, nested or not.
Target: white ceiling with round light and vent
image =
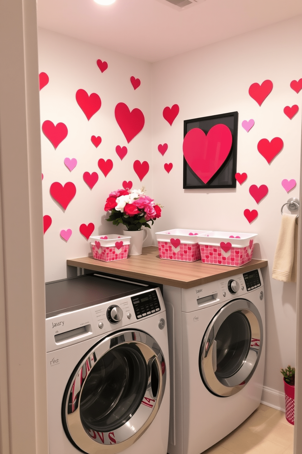
[[[301,0],[38,0],[38,26],[149,62],[302,14]]]

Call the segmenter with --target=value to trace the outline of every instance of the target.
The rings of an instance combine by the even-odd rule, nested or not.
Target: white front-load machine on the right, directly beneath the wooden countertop
[[[168,453],[200,454],[260,404],[263,280],[256,269],[190,289],[164,286],[163,295],[171,370]]]

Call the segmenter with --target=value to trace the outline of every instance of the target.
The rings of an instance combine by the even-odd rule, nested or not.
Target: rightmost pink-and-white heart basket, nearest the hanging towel
[[[241,266],[252,260],[257,233],[208,232],[199,237],[202,263]]]

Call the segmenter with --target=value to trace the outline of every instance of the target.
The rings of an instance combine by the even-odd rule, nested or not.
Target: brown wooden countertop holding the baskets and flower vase
[[[80,257],[67,260],[67,265],[77,266],[92,271],[112,273],[118,276],[155,282],[181,288],[191,288],[207,282],[217,281],[235,274],[264,268],[267,260],[252,259],[242,266],[210,265],[197,262],[177,262],[159,258],[158,247],[143,247],[139,256],[130,256],[125,260],[102,262],[93,257]]]

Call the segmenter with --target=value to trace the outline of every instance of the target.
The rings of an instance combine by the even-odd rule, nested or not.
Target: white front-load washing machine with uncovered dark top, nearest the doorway
[[[46,284],[50,454],[166,454],[169,363],[158,287],[97,274]]]

